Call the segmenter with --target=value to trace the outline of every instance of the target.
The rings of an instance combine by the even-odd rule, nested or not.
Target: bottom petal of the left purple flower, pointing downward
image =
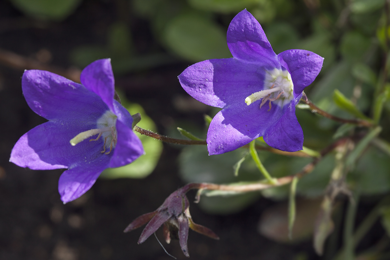
[[[108,168],[109,160],[108,156],[99,156],[95,160],[87,160],[82,165],[63,172],[58,180],[61,200],[67,203],[86,193],[100,173]]]

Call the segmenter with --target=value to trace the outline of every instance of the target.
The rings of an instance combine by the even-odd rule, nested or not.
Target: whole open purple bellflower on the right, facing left
[[[209,154],[235,150],[263,136],[271,147],[301,150],[295,106],[321,70],[323,58],[305,50],[272,50],[259,22],[243,10],[227,31],[233,58],[191,65],[179,75],[195,99],[222,108],[207,132]]]

